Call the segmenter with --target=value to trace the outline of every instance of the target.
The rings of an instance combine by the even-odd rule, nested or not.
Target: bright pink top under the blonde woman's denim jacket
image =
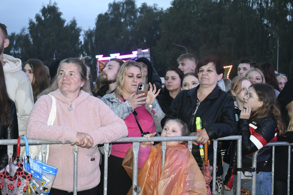
[[[124,102],[120,98],[121,102]],[[154,119],[151,114],[147,111],[145,106],[141,106],[135,109],[137,112],[136,118],[144,132],[154,133],[156,132]],[[128,137],[141,137],[142,133],[139,130],[137,122],[134,118],[133,112],[130,113],[124,122],[128,129]],[[132,143],[113,143],[111,149],[111,155],[117,156],[119,158],[124,158],[127,150],[132,146]]]

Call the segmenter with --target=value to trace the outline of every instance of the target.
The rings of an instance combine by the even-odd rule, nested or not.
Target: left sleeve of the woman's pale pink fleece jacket
[[[37,100],[28,118],[26,137],[61,143],[66,143],[67,141],[75,142],[77,131],[71,130],[66,126],[47,125],[51,107],[52,99],[49,95],[42,95]]]

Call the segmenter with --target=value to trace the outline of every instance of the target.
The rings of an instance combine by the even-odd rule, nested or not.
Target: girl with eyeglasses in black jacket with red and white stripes
[[[264,147],[283,136],[285,126],[276,104],[275,92],[267,84],[253,84],[243,98],[243,110],[238,121],[238,134],[242,136],[242,167],[252,167],[253,153],[257,155],[256,194],[271,194],[272,148]],[[245,180],[251,189],[251,180]],[[245,185],[246,186],[246,185]],[[233,182],[236,188],[236,178]]]

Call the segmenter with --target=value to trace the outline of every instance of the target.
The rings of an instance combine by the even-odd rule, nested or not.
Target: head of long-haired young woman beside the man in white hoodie
[[[50,85],[45,65],[38,59],[29,59],[24,63],[22,70],[32,84],[34,102],[36,102],[38,95]]]

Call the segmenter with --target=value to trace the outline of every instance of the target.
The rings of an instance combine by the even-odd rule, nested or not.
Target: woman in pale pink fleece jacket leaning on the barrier
[[[49,95],[41,96],[28,119],[26,137],[71,142],[78,145],[77,191],[97,194],[100,182],[100,154],[97,145],[109,143],[128,135],[125,122],[90,93],[88,69],[80,59],[60,62],[54,82],[43,94],[56,98],[57,114],[53,126],[47,125],[52,107]],[[87,93],[88,92],[88,93]],[[58,168],[50,194],[73,191],[73,152],[69,144],[52,144],[48,164]]]

